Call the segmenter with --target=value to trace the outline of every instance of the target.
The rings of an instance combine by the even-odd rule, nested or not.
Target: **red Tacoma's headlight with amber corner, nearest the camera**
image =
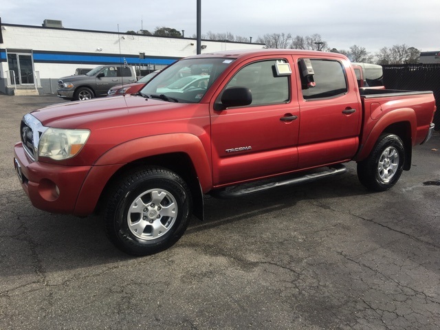
[[[41,135],[39,156],[63,160],[74,157],[89,138],[87,129],[47,129]]]

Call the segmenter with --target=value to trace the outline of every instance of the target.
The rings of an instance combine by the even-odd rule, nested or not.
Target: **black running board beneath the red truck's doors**
[[[294,177],[292,179],[286,179],[283,181],[270,182],[269,184],[254,186],[252,188],[234,189],[234,190],[226,190],[226,189],[213,190],[212,192],[210,192],[210,195],[212,195],[212,197],[221,198],[221,199],[243,197],[246,195],[254,194],[256,192],[262,192],[265,190],[270,190],[281,186],[295,186],[298,184],[304,184],[306,182],[317,181],[319,179],[324,179],[325,177],[333,177],[334,175],[340,175],[345,172],[347,172],[347,168],[342,164],[338,164],[331,166],[327,170],[323,170],[321,172],[311,173],[311,174],[303,175],[301,177]]]

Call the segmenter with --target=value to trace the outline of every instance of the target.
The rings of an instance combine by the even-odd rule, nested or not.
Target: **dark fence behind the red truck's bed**
[[[435,129],[440,129],[440,64],[382,65],[386,89],[433,91],[437,104]]]

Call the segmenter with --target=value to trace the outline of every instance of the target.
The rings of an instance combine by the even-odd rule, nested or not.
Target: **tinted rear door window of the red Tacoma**
[[[319,98],[333,98],[347,93],[347,80],[345,79],[344,68],[338,61],[310,60],[314,68],[315,87],[304,89],[305,100]]]

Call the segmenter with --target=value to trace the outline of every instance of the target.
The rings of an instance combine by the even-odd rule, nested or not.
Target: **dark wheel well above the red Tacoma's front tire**
[[[186,184],[188,184],[192,195],[193,213],[199,219],[203,219],[203,194],[201,192],[195,168],[192,164],[190,157],[186,153],[169,153],[164,155],[155,155],[152,157],[137,159],[135,162],[126,164],[118,171],[116,171],[105,185],[100,195],[100,199],[96,206],[95,212],[98,214],[100,213],[100,210],[102,210],[104,203],[107,201],[109,190],[111,190],[111,187],[117,184],[118,181],[120,181],[120,179],[124,177],[125,173],[146,166],[167,168],[168,170],[172,170],[174,173],[184,179]]]

